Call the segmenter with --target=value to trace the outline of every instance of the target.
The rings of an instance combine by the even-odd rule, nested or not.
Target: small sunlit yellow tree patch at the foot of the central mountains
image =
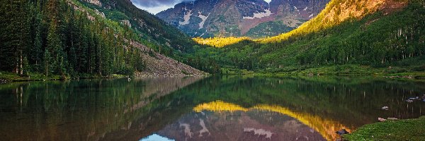
[[[236,44],[243,40],[249,40],[249,37],[210,37],[207,39],[203,39],[201,37],[193,38],[195,42],[198,44],[206,44],[212,47],[225,47],[229,44]]]

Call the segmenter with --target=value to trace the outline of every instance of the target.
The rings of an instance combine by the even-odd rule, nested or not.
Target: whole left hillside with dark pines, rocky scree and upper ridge
[[[55,79],[202,73],[163,55],[194,44],[179,30],[132,9],[130,1],[89,2],[1,0],[0,70]]]

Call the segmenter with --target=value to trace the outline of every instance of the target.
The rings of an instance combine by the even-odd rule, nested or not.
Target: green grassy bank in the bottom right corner
[[[425,140],[425,116],[363,125],[344,140]]]

